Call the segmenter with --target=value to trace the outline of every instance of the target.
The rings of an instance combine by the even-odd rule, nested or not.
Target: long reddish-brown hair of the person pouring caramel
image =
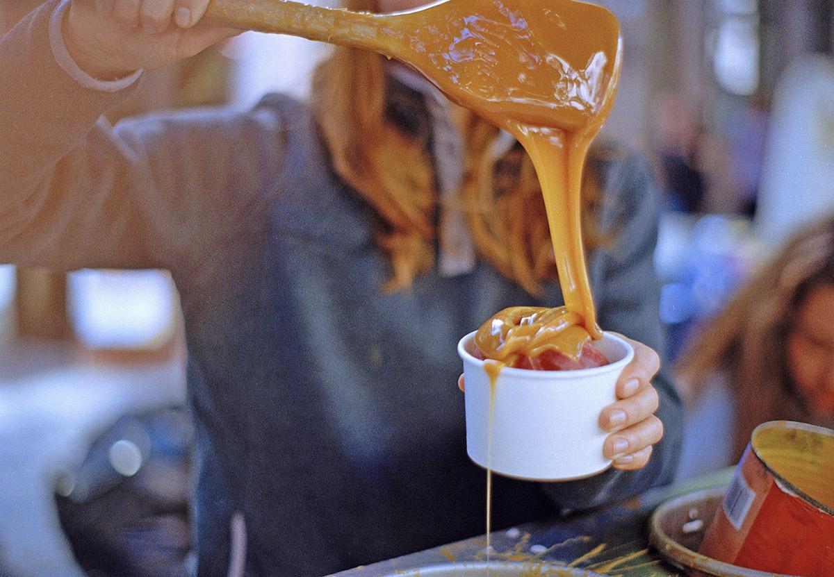
[[[348,0],[371,12],[374,0]],[[407,289],[434,262],[438,196],[425,131],[408,133],[387,110],[385,58],[336,48],[313,78],[314,115],[333,167],[379,214],[377,242],[389,254],[387,289]],[[498,129],[470,114],[465,122],[465,177],[455,202],[464,208],[482,258],[528,293],[557,278],[544,203],[530,159],[520,147],[496,158]],[[589,163],[590,164],[590,163]],[[587,248],[600,240],[596,171],[585,171],[583,229]]]

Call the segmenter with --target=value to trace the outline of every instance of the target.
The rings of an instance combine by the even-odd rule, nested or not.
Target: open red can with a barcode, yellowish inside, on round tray
[[[834,431],[756,427],[698,552],[771,573],[834,575]]]

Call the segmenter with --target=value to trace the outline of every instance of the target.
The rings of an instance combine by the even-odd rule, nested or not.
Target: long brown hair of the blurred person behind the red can
[[[734,400],[736,459],[757,424],[811,420],[787,370],[786,341],[797,310],[821,284],[834,285],[831,217],[796,233],[681,355],[676,371],[688,404],[701,398],[716,373],[726,375]]]

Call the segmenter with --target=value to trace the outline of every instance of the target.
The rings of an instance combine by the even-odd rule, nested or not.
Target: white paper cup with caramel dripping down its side
[[[495,473],[540,481],[581,479],[610,466],[602,454],[607,433],[600,428],[600,414],[616,400],[617,379],[634,358],[630,344],[604,333],[594,346],[610,363],[594,369],[505,367],[490,403],[490,377],[484,361],[472,356],[474,341],[472,332],[458,343],[470,459]]]

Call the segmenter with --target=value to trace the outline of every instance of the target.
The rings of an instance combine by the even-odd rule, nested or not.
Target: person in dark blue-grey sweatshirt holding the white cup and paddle
[[[529,159],[349,48],[321,65],[309,107],[271,95],[245,113],[104,122],[143,69],[236,33],[200,23],[207,5],[51,0],[0,39],[0,261],[172,272],[199,574],[326,574],[482,533],[455,344],[510,304],[561,302]],[[495,527],[625,499],[675,469],[651,173],[610,148],[586,173],[600,324],[641,341],[600,415],[614,467],[496,480]]]

